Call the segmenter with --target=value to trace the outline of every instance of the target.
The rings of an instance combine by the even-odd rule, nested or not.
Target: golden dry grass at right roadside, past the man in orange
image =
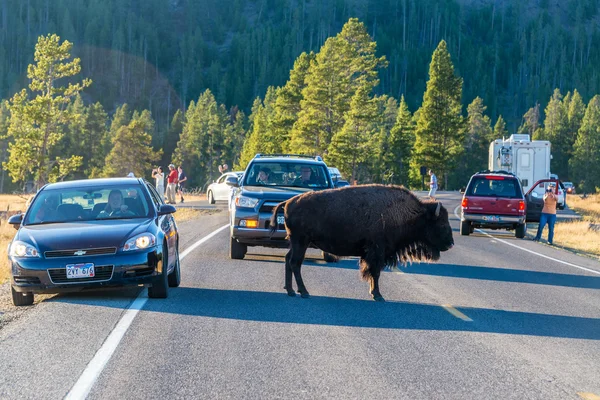
[[[569,207],[583,220],[561,222],[554,227],[554,243],[558,246],[600,256],[600,232],[589,229],[590,223],[600,223],[600,194],[582,199],[578,195],[567,198]],[[546,228],[547,229],[547,228]],[[547,234],[544,232],[543,237]]]

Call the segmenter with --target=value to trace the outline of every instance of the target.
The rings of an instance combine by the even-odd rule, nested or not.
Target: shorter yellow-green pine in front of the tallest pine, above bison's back
[[[357,178],[359,164],[367,161],[373,153],[374,135],[373,121],[377,118],[377,108],[373,99],[369,98],[369,85],[359,87],[350,103],[344,127],[337,132],[327,154],[327,163],[335,165],[342,175],[353,181]]]

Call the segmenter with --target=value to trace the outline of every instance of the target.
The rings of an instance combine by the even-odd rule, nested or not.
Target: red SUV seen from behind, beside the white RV
[[[525,237],[526,203],[519,179],[506,171],[482,171],[471,177],[462,200],[460,234],[475,228],[515,230]]]

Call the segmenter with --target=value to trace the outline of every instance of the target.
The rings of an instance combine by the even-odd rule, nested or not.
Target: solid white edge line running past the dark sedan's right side
[[[221,232],[222,230],[229,227],[229,224],[220,227],[216,231],[210,233],[209,235],[203,237],[198,240],[196,243],[185,249],[184,252],[179,254],[179,259],[183,260],[188,254],[190,254],[194,249],[200,246],[202,243],[205,243],[213,236]],[[88,365],[83,370],[83,373],[75,382],[75,385],[71,388],[69,393],[65,396],[65,399],[74,400],[74,399],[85,399],[90,390],[98,380],[98,377],[108,364],[108,361],[111,359],[115,350],[119,346],[119,343],[125,336],[125,333],[129,329],[129,326],[137,316],[138,312],[144,308],[144,305],[148,301],[148,296],[145,290],[142,290],[138,297],[131,303],[125,314],[121,317],[115,328],[108,335],[100,349],[96,352],[92,360],[88,363]]]

